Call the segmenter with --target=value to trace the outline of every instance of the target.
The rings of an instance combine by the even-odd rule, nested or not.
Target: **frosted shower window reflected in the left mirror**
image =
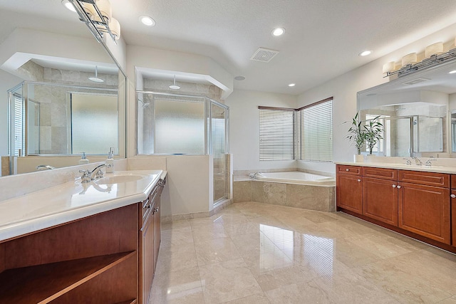
[[[117,95],[71,94],[71,133],[73,153],[118,147]]]

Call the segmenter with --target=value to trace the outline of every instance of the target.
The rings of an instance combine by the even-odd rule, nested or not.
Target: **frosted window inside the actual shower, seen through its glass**
[[[155,100],[155,153],[204,154],[204,103]]]

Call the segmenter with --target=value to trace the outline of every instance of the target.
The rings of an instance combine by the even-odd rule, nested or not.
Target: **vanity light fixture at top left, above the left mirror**
[[[87,24],[93,36],[102,43],[103,33],[108,33],[114,43],[120,38],[120,23],[113,18],[109,0],[66,0],[79,14],[80,20]]]

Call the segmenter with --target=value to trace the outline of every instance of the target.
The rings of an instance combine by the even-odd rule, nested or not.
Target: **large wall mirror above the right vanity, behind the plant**
[[[451,157],[456,150],[456,73],[450,73],[454,70],[452,61],[358,92],[361,119],[380,116],[384,126],[378,155]]]

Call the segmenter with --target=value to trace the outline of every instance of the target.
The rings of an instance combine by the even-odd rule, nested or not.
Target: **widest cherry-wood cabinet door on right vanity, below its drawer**
[[[399,227],[450,245],[450,189],[399,183]]]

